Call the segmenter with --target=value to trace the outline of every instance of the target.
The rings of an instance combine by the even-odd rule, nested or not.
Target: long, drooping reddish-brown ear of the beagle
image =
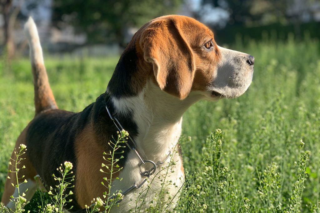
[[[140,37],[144,60],[152,64],[161,90],[185,99],[191,91],[195,65],[191,48],[176,20],[156,20]]]

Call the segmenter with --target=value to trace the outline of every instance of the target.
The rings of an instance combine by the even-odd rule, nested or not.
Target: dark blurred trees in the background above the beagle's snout
[[[308,26],[313,25],[306,23],[319,23],[320,0],[197,0],[196,2],[199,6],[192,13],[211,28],[224,34],[224,38],[220,37],[220,41],[226,43],[234,42],[235,34],[243,35],[243,38],[261,39],[262,31],[267,32],[268,35],[265,34],[267,36],[278,38],[286,37],[289,32],[294,33],[296,39],[301,39],[304,31],[311,32],[315,37],[319,35],[317,27],[309,28]],[[218,13],[224,13],[223,19],[207,18],[208,15],[217,17]],[[288,27],[284,29],[284,26]],[[241,32],[244,28],[246,30]]]

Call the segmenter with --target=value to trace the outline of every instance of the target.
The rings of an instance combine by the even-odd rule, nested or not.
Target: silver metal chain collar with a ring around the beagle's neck
[[[116,117],[113,117],[108,109],[108,106],[106,105],[106,109],[107,112],[109,114],[110,119],[113,121],[113,123],[115,124],[116,128],[119,131],[124,130],[124,128],[122,127],[122,125],[120,124],[119,120]],[[128,188],[127,190],[125,190],[124,192],[122,192],[122,195],[126,195],[127,193],[129,193],[132,189],[136,188],[139,189],[144,183],[147,182],[148,178],[153,175],[156,171],[157,166],[164,164],[164,162],[166,162],[166,160],[169,158],[171,151],[169,152],[169,154],[166,156],[166,158],[164,159],[163,162],[158,161],[157,163],[151,161],[151,160],[144,160],[141,155],[139,154],[138,150],[136,149],[136,144],[133,140],[133,138],[131,138],[131,136],[128,136],[132,142],[132,146],[129,145],[128,141],[124,140],[124,142],[126,143],[126,145],[129,147],[129,149],[131,149],[132,151],[134,151],[134,153],[137,155],[137,157],[140,160],[139,163],[139,169],[140,169],[140,174],[142,177],[146,177],[139,185],[134,183],[130,188]],[[151,163],[152,164],[152,168],[149,170],[145,170],[145,171],[141,171],[141,165],[145,165],[146,163]],[[114,199],[116,197],[116,195],[110,196],[109,199]],[[116,203],[121,202],[122,200],[117,201]]]

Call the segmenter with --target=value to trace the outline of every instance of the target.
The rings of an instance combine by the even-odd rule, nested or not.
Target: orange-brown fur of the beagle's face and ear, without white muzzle
[[[176,32],[172,28],[176,28]],[[159,76],[155,73],[158,77],[156,82],[161,89],[180,99],[186,98],[191,89],[205,91],[205,86],[210,84],[214,67],[220,60],[219,49],[209,28],[187,17],[164,16],[149,24],[141,37],[147,40],[147,43],[140,44],[146,45],[144,59],[151,60],[154,70],[157,70],[159,63],[157,61],[161,61],[160,63],[165,67],[164,70],[174,68],[176,69],[174,73],[178,73],[173,77],[175,81],[168,81],[167,77],[170,74],[165,71],[162,71]],[[215,48],[213,54],[201,50],[203,44],[210,40]],[[174,67],[170,67],[172,61],[175,62]],[[171,84],[164,88],[166,83]]]

